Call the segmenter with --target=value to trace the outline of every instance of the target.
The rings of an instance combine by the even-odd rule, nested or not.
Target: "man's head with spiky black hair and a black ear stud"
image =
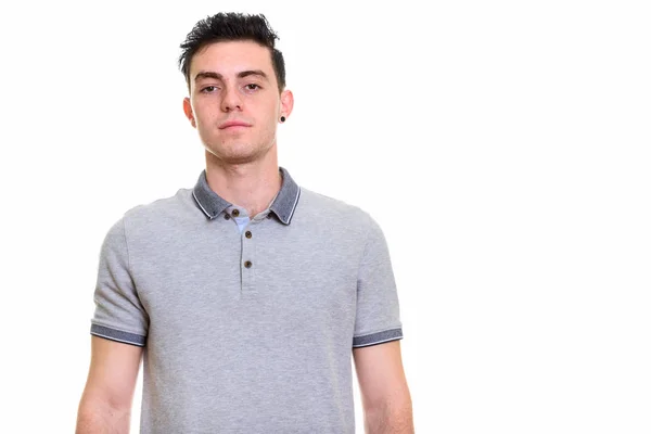
[[[225,163],[261,158],[292,111],[276,39],[264,15],[219,13],[200,21],[181,44],[190,93],[183,111],[206,150]]]

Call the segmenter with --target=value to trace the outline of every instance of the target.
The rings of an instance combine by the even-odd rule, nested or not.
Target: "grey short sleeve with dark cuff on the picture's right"
[[[403,339],[396,282],[382,229],[370,226],[357,275],[357,310],[353,347]]]

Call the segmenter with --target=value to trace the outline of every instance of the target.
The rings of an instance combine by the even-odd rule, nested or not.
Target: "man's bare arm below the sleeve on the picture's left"
[[[76,434],[128,433],[142,347],[91,336]]]

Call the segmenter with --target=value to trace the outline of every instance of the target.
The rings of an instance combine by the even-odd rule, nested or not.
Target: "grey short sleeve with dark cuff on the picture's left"
[[[111,227],[102,243],[94,304],[91,334],[145,345],[149,316],[140,303],[129,269],[124,217]]]

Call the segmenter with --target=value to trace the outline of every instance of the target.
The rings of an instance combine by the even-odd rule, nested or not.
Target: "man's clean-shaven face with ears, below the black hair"
[[[192,58],[183,110],[206,150],[230,164],[260,158],[276,144],[280,116],[291,112],[279,94],[268,48],[253,41],[210,43]]]

